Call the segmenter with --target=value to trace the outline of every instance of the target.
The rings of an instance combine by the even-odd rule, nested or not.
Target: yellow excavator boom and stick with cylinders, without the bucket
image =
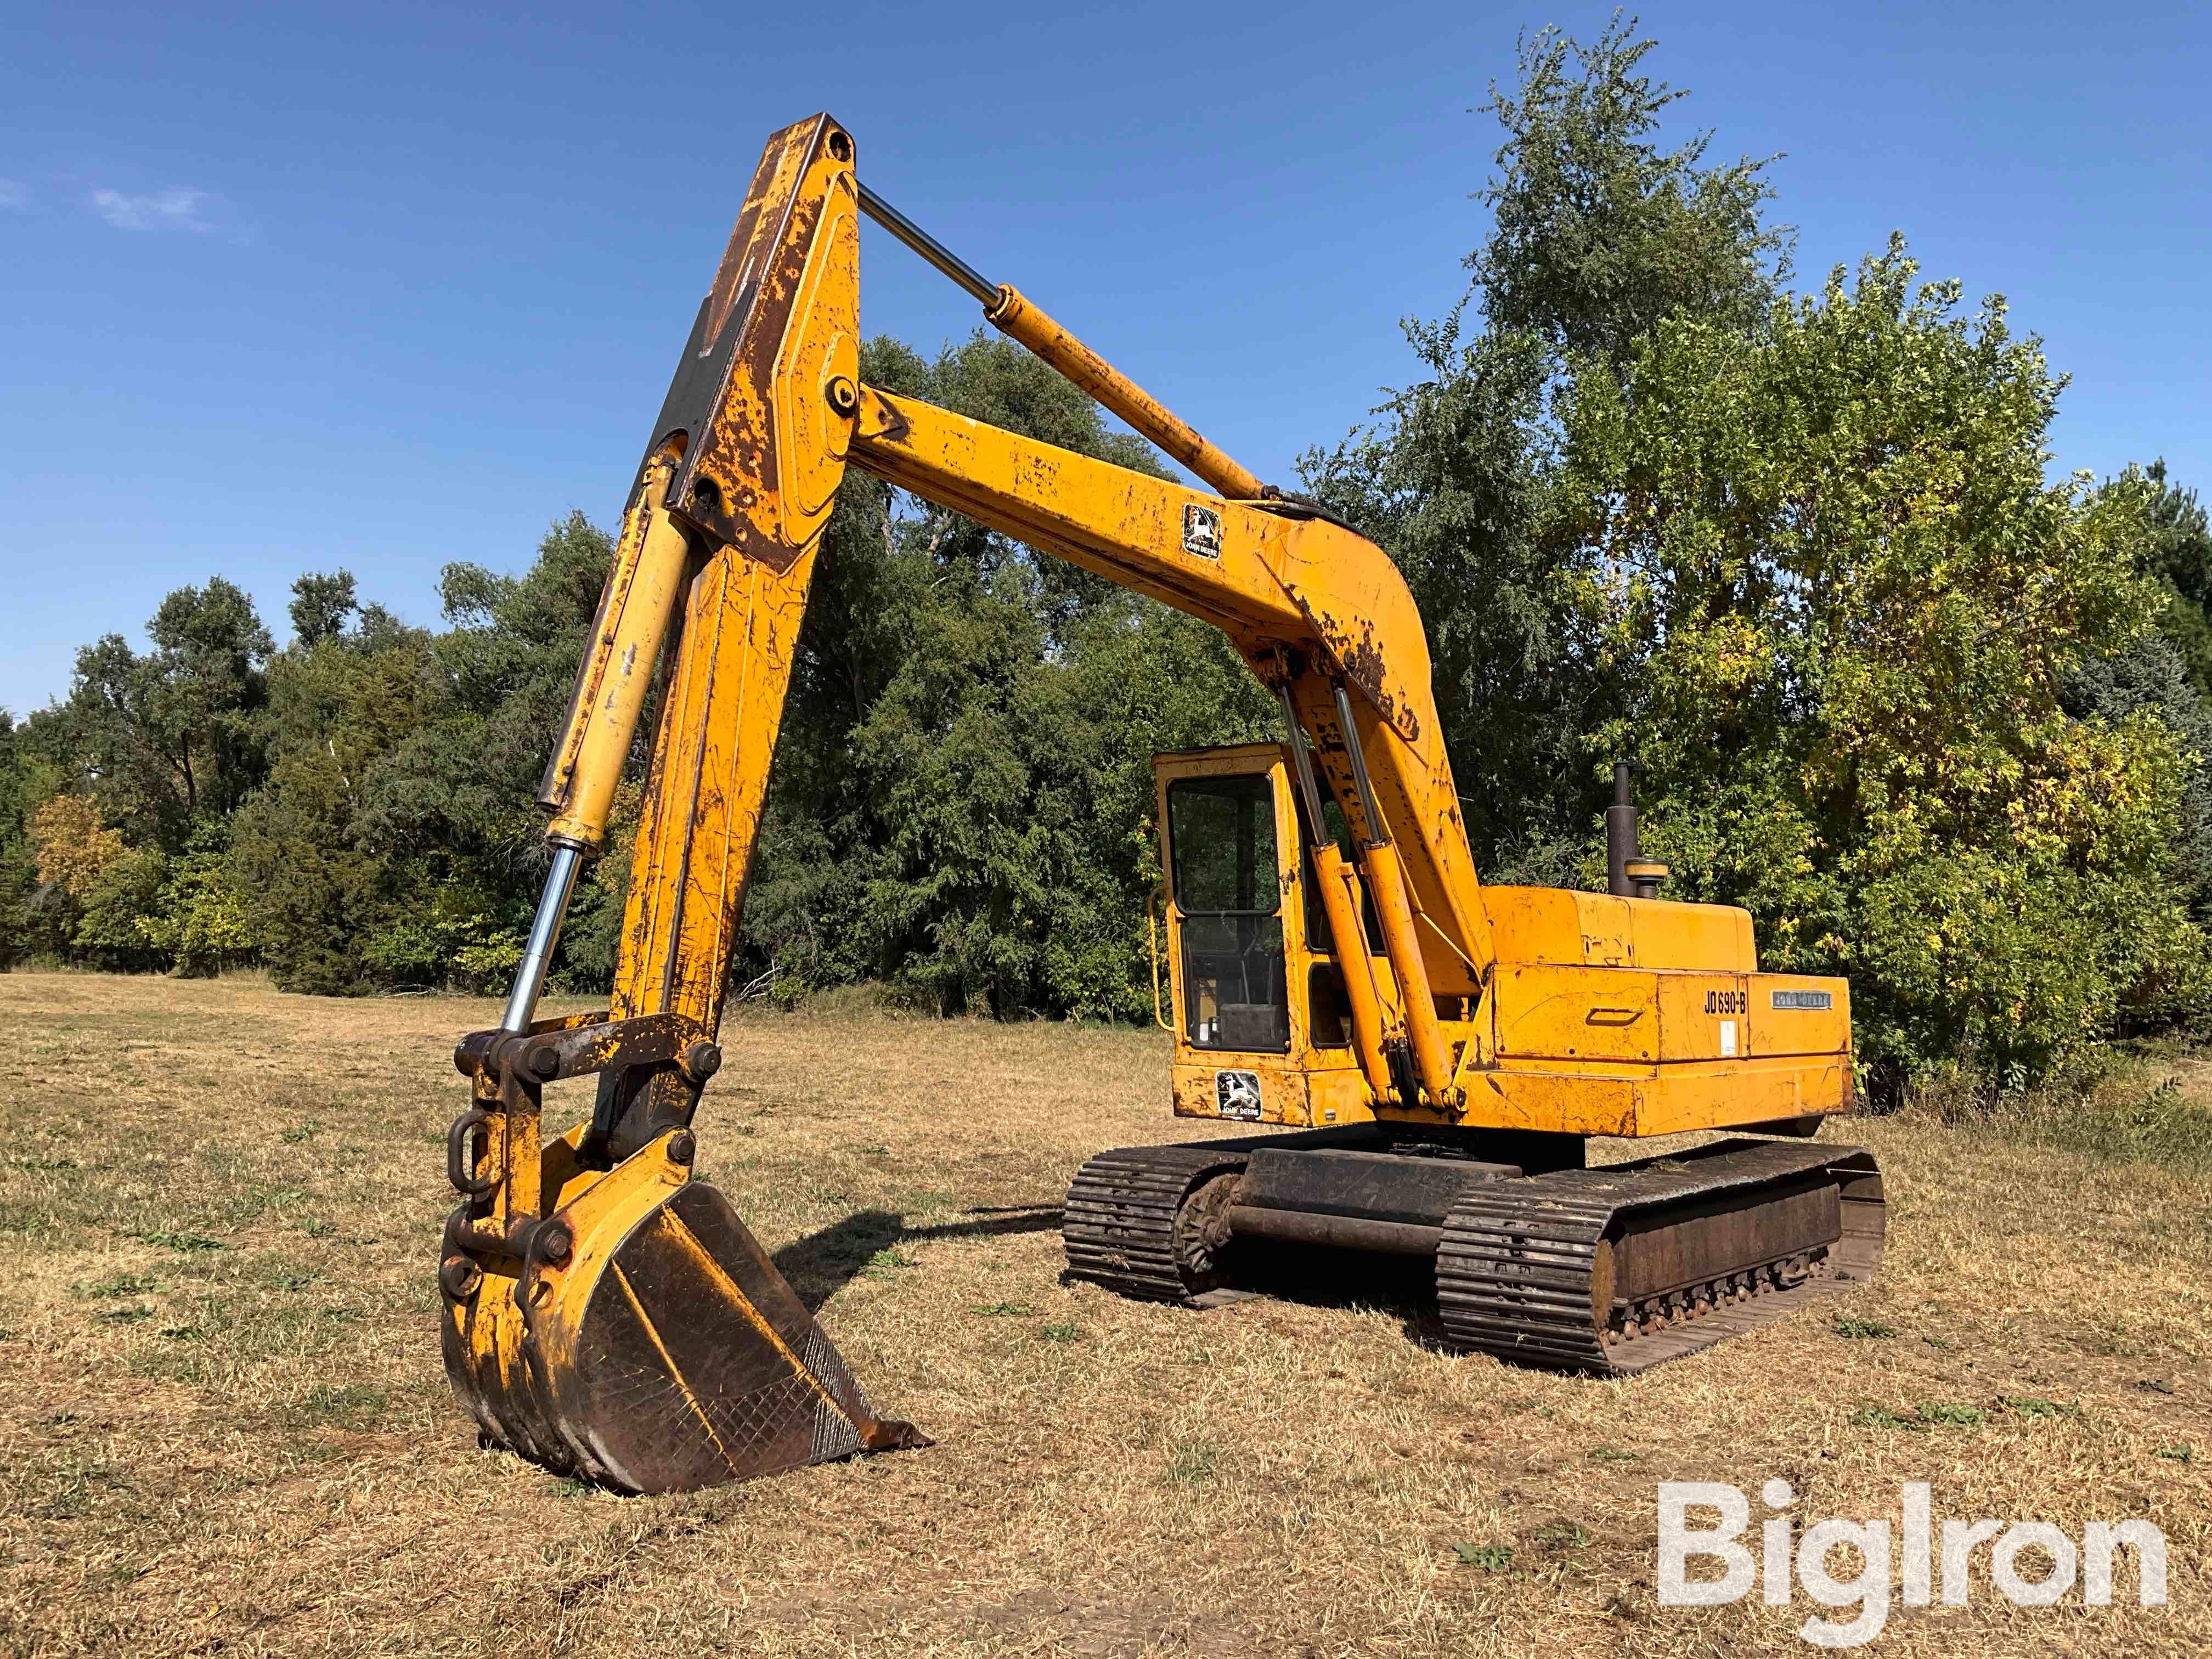
[[[863,212],[1212,489],[860,385]],[[975,276],[880,204],[854,175],[849,135],[825,115],[770,139],[701,301],[542,792],[553,847],[577,858],[595,849],[644,684],[666,655],[615,1018],[717,1020],[792,650],[845,467],[1188,611],[1234,641],[1305,730],[1316,781],[1354,827],[1358,869],[1340,856],[1329,869],[1334,885],[1365,885],[1383,925],[1387,984],[1354,991],[1374,1084],[1391,1086],[1391,1064],[1411,1068],[1413,1088],[1444,1108],[1451,1062],[1433,1000],[1480,995],[1491,940],[1405,580],[1371,542],[1263,487],[1020,292]],[[1318,799],[1310,805],[1318,825]],[[566,880],[557,867],[555,885]],[[549,887],[546,909],[557,898]],[[1367,962],[1367,951],[1349,956]],[[542,971],[540,953],[533,967]],[[679,1086],[659,1084],[641,1115],[613,1099],[617,1088],[599,1128],[615,1135],[635,1119],[624,1150],[644,1126],[686,1115]]]

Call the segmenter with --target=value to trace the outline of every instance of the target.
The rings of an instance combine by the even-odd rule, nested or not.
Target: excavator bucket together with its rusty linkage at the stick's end
[[[876,1418],[730,1201],[690,1181],[688,1130],[617,1164],[588,1128],[540,1146],[544,1084],[608,1071],[697,1093],[721,1051],[675,1013],[538,1022],[456,1048],[438,1287],[453,1391],[484,1444],[624,1491],[681,1491],[927,1444]]]

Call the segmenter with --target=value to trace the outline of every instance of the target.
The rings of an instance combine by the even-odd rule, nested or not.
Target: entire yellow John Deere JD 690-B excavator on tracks
[[[865,385],[863,215],[1201,484]],[[535,927],[500,1029],[456,1048],[442,1345],[484,1444],[624,1491],[927,1444],[872,1411],[726,1192],[692,1179],[847,467],[1203,617],[1283,708],[1281,743],[1155,761],[1175,1115],[1267,1128],[1093,1157],[1066,1197],[1068,1274],[1206,1307],[1316,1252],[1425,1259],[1449,1343],[1597,1376],[1871,1276],[1880,1172],[1809,1139],[1856,1106],[1847,984],[1759,973],[1745,911],[1659,898],[1626,768],[1610,891],[1484,887],[1389,557],[978,276],[816,115],[768,139],[653,425],[540,792]],[[611,1006],[538,1020],[653,684]],[[546,1141],[546,1084],[586,1075],[593,1115]],[[1686,1130],[1741,1133],[1584,1157],[1588,1137]]]

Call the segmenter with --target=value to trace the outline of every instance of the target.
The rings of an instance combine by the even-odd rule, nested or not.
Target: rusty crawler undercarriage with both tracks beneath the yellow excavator
[[[1632,1376],[1867,1283],[1882,1256],[1882,1177],[1874,1155],[1851,1146],[1739,1139],[1535,1177],[1469,1159],[1440,1228],[1252,1201],[1307,1155],[1316,1166],[1411,1161],[1391,1146],[1402,1141],[1363,1126],[1102,1152],[1068,1188],[1068,1272],[1121,1296],[1210,1307],[1245,1294],[1232,1285],[1265,1274],[1265,1252],[1279,1245],[1429,1254],[1455,1345],[1515,1365]],[[1451,1164],[1475,1146],[1425,1155]],[[1263,1175],[1263,1164],[1276,1168]],[[1192,1254],[1192,1237],[1206,1239],[1203,1252]]]

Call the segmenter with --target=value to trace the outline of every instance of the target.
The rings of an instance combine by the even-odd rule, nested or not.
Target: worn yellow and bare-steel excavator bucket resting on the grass
[[[489,1270],[447,1256],[445,1369],[484,1444],[635,1493],[929,1444],[869,1411],[730,1199],[670,1141],[688,1152],[679,1130],[608,1172],[575,1172],[575,1137],[553,1141],[549,1188],[566,1172],[575,1197],[524,1254]]]

